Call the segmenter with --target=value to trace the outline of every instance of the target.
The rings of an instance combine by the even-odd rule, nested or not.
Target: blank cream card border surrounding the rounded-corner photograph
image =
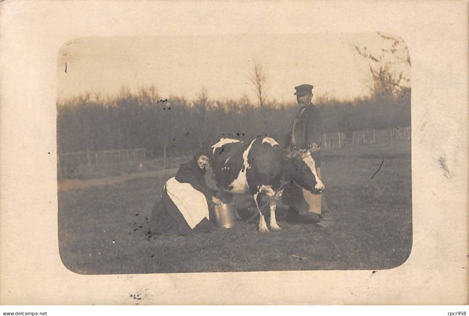
[[[467,303],[466,1],[20,0],[0,6],[1,304],[136,304],[136,294],[139,304]],[[412,59],[413,247],[404,264],[375,273],[91,276],[63,266],[55,102],[63,43],[88,36],[370,31],[401,36]]]

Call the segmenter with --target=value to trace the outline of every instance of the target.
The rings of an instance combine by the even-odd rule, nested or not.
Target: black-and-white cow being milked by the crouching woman
[[[317,149],[290,152],[270,137],[257,137],[249,142],[221,138],[211,147],[212,177],[221,191],[254,198],[260,232],[269,231],[260,207],[262,196],[267,197],[270,228],[278,230],[275,209],[287,184],[294,182],[314,194],[325,189],[316,173],[312,150]]]

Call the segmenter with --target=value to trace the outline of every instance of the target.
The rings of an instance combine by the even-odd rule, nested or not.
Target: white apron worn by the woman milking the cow
[[[181,183],[172,177],[166,181],[166,192],[191,229],[194,229],[202,219],[210,219],[207,199],[190,183]]]

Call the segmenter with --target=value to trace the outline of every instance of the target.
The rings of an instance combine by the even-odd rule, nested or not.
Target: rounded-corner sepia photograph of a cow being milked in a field
[[[382,270],[408,258],[411,56],[399,35],[76,38],[59,55],[69,270]]]

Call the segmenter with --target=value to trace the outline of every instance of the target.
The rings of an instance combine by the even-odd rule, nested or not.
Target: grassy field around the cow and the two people
[[[167,175],[59,192],[62,262],[81,274],[379,270],[403,263],[412,245],[410,143],[324,150],[321,169],[333,226],[287,224],[280,210],[282,230],[265,234],[254,221],[148,239],[146,220]]]

